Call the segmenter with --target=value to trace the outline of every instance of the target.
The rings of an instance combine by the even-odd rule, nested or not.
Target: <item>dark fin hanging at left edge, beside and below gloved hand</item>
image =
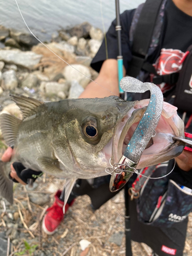
[[[13,182],[5,174],[5,163],[0,161],[0,195],[13,204]]]

